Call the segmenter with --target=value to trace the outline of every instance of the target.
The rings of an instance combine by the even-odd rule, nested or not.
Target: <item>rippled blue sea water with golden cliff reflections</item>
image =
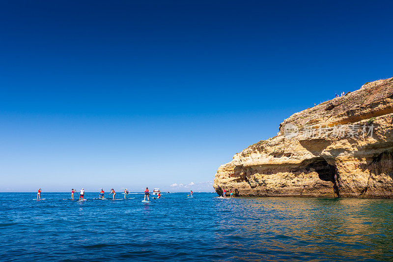
[[[0,260],[393,261],[393,200],[96,195],[1,193]]]

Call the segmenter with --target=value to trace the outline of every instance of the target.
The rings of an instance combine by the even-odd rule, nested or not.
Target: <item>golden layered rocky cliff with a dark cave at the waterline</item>
[[[296,113],[220,166],[218,194],[393,197],[393,78]]]

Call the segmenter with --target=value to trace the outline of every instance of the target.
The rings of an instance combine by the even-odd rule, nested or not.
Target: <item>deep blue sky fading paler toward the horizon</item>
[[[213,191],[218,167],[284,118],[393,76],[392,10],[3,0],[0,191]]]

